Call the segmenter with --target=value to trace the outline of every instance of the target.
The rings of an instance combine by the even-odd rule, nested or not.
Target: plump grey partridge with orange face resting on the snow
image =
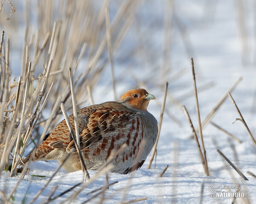
[[[99,169],[111,156],[111,152],[116,152],[125,143],[127,146],[111,162],[111,172],[130,173],[143,165],[158,132],[157,120],[147,111],[150,99],[155,97],[145,89],[133,89],[117,101],[90,105],[78,111],[80,147],[87,169]],[[68,118],[74,130],[73,114]],[[140,158],[135,160],[143,139],[145,146],[140,151]],[[61,163],[74,146],[63,120],[38,147],[32,161],[57,160]],[[31,154],[23,162],[26,163],[30,157]],[[71,154],[63,168],[68,172],[81,170],[77,152]]]

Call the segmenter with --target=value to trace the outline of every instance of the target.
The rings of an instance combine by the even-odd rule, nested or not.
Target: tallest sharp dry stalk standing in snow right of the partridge
[[[195,108],[196,108],[197,119],[198,119],[198,130],[199,130],[200,141],[201,141],[202,150],[203,150],[203,154],[204,154],[204,166],[205,166],[204,170],[205,170],[206,175],[209,176],[206,150],[204,147],[204,138],[203,138],[203,132],[202,132],[202,127],[201,127],[201,119],[200,119],[200,112],[199,112],[199,105],[198,105],[198,95],[197,95],[197,88],[196,88],[196,81],[195,81],[195,69],[194,69],[193,58],[191,58],[191,65],[192,65],[192,76],[193,76],[193,84],[194,84],[194,92],[195,92]]]

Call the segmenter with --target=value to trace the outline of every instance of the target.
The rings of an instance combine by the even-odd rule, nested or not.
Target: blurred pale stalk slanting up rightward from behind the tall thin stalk
[[[227,98],[228,93],[232,92],[236,88],[236,86],[239,84],[239,82],[241,82],[241,80],[242,80],[242,78],[237,79],[237,81],[227,90],[227,92],[223,96],[221,96],[221,98],[218,100],[218,102],[216,102],[216,104],[214,105],[212,110],[208,113],[208,115],[206,116],[206,118],[202,122],[201,126],[202,126],[203,129],[211,121],[212,117],[215,115],[217,110],[221,107],[221,105],[223,104],[223,102]],[[199,130],[196,129],[195,132],[198,134]]]

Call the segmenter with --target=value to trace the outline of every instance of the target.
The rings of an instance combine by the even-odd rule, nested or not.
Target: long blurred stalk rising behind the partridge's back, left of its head
[[[114,92],[114,99],[117,100],[116,79],[115,79],[114,63],[113,63],[113,50],[112,50],[112,44],[111,44],[111,28],[110,28],[110,17],[109,17],[108,5],[106,5],[105,16],[106,16],[105,19],[106,19],[106,29],[107,29],[106,35],[107,35],[107,45],[108,45],[108,57],[109,57],[110,66],[111,66],[112,86],[113,86],[113,92]]]

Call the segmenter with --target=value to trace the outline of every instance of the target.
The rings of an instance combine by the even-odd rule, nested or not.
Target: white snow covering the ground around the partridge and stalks
[[[238,1],[231,0],[211,2],[200,0],[174,1],[175,15],[177,15],[179,20],[183,23],[183,34],[184,32],[186,33],[186,39],[189,40],[192,50],[186,50],[186,46],[188,45],[184,44],[181,32],[174,22],[171,48],[172,56],[170,58],[172,73],[175,74],[182,69],[185,69],[186,72],[182,77],[169,81],[169,93],[173,94],[177,99],[180,99],[180,102],[186,106],[194,126],[197,127],[195,99],[192,92],[190,58],[194,57],[198,87],[204,87],[210,83],[214,84],[212,88],[201,92],[199,91],[198,100],[201,120],[204,120],[218,99],[221,98],[236,80],[242,77],[242,81],[232,92],[232,96],[252,134],[255,135],[256,117],[255,113],[251,112],[253,94],[256,87],[254,57],[256,54],[256,42],[254,37],[254,24],[256,21],[253,19],[253,6],[255,5],[253,5],[251,1],[244,2],[244,22],[246,23],[247,41],[245,41],[245,57],[242,58],[243,41],[241,28],[238,23],[237,2]],[[164,1],[158,1],[158,3],[156,3],[156,1],[149,0],[141,7],[141,11],[137,16],[137,20],[141,22],[148,19],[148,23],[145,23],[145,25],[140,24],[144,25],[140,28],[140,32],[143,36],[143,41],[140,43],[144,45],[142,51],[144,53],[141,55],[147,59],[147,56],[149,57],[151,52],[154,52],[155,56],[155,59],[147,59],[149,61],[148,63],[139,61],[136,64],[134,62],[134,66],[138,66],[138,68],[133,69],[133,74],[139,79],[147,79],[145,71],[153,69],[150,67],[151,65],[157,66],[158,68],[161,65],[164,6]],[[129,46],[129,42],[132,41],[131,46],[135,46],[134,44],[140,41],[140,37],[136,36],[133,31],[134,30],[129,31],[128,36],[119,48],[120,51],[122,51],[122,49],[129,49],[129,47],[126,47]],[[124,52],[122,52],[122,54],[123,53]],[[127,68],[125,63],[122,63],[122,58],[124,57],[120,55],[121,54],[117,52],[115,58],[117,74],[119,69]],[[143,67],[144,65],[146,68]],[[111,76],[106,73],[102,77],[101,83],[99,83],[98,87],[93,91],[95,103],[113,100],[112,93],[103,94],[105,91],[104,87],[111,86],[110,77]],[[123,83],[117,83],[119,96],[123,91],[135,85],[131,76],[127,78],[128,79]],[[155,80],[157,80],[157,78]],[[164,82],[160,83],[164,84]],[[182,96],[186,93],[190,93],[191,95],[183,99]],[[162,101],[163,90],[159,91],[159,89],[154,88],[154,85],[151,85],[151,94],[154,94],[160,102]],[[147,200],[141,201],[140,203],[199,203],[202,182],[204,182],[202,203],[231,203],[232,198],[212,198],[211,195],[216,195],[216,192],[222,189],[236,192],[235,188],[238,187],[238,184],[233,183],[233,178],[235,178],[235,181],[238,181],[241,187],[240,192],[243,192],[244,196],[249,197],[250,203],[254,203],[256,200],[255,178],[247,174],[247,171],[256,174],[256,150],[242,123],[237,121],[233,124],[239,116],[230,99],[227,98],[212,119],[212,122],[215,122],[230,133],[233,133],[242,141],[240,144],[231,139],[231,142],[236,148],[238,160],[236,160],[234,152],[230,147],[230,137],[209,124],[203,130],[203,134],[210,176],[206,176],[204,173],[195,140],[190,138],[191,129],[183,111],[170,103],[169,100],[166,102],[166,108],[171,115],[175,115],[180,120],[182,127],[179,127],[165,114],[157,146],[156,164],[153,162],[151,169],[148,170],[148,158],[140,170],[130,175],[110,173],[109,182],[118,181],[118,183],[114,184],[106,191],[104,203],[112,204],[120,202],[123,199],[124,201],[128,201],[142,197],[147,197]],[[160,107],[156,102],[150,102],[148,111],[159,120]],[[237,165],[249,181],[244,181],[230,166],[228,170],[231,174],[227,171],[224,165],[227,164],[227,162],[223,161],[221,156],[217,153],[217,148],[213,141],[217,143],[217,148]],[[175,153],[177,157],[174,156]],[[176,158],[176,168],[174,167],[174,158]],[[155,169],[154,165],[156,165]],[[169,165],[169,168],[166,170],[163,178],[159,178],[158,175],[166,165]],[[46,177],[25,176],[16,190],[14,203],[20,203],[25,194],[25,203],[28,203],[38,190],[44,186],[57,167],[58,164],[55,161],[37,161],[30,164],[29,175],[41,175]],[[93,176],[96,172],[89,171],[89,173]],[[231,178],[231,175],[233,178]],[[49,197],[56,185],[58,185],[58,189],[54,195],[62,193],[64,190],[81,182],[82,176],[81,171],[66,173],[64,170],[61,170],[35,203],[45,202],[45,199]],[[0,178],[0,190],[10,192],[15,186],[17,179],[18,178],[10,178],[9,173],[3,173]],[[95,193],[89,195],[87,195],[87,193],[102,187],[104,182],[105,175],[86,187],[77,197],[76,203],[82,203],[93,196]],[[26,193],[27,189],[28,192]],[[75,190],[78,189],[79,187]],[[69,195],[71,195],[71,192],[58,198],[55,203],[67,201]],[[95,198],[90,202],[97,203],[100,198],[101,197]],[[241,200],[241,198],[237,198],[236,200],[236,203],[243,202],[244,200]]]

